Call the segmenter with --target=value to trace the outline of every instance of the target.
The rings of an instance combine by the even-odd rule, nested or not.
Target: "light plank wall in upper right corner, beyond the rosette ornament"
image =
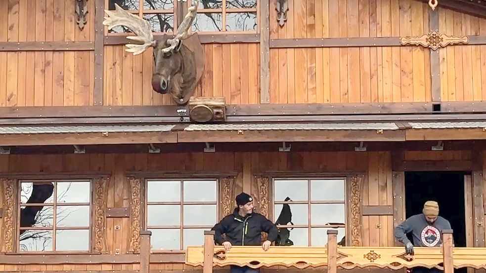
[[[446,35],[486,35],[486,19],[439,9],[439,31]],[[480,101],[486,96],[486,45],[441,49],[443,101]]]

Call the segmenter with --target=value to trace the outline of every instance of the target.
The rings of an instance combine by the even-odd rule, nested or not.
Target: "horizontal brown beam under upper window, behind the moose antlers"
[[[103,37],[104,45],[124,45],[133,42],[127,39],[128,35],[108,35]],[[199,41],[207,43],[258,43],[260,34],[200,34]],[[160,39],[162,35],[154,35],[154,39]]]

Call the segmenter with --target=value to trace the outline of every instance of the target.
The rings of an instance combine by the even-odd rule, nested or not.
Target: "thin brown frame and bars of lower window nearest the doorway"
[[[307,180],[308,184],[308,197],[307,201],[275,201],[275,180]],[[310,181],[312,180],[343,180],[344,181],[344,200],[343,201],[311,201],[310,200]],[[337,175],[337,176],[326,176],[326,175],[319,175],[319,176],[275,176],[271,177],[271,219],[272,222],[275,223],[277,220],[276,218],[278,215],[275,213],[275,205],[278,204],[307,204],[308,205],[308,214],[307,214],[307,225],[278,225],[281,228],[307,228],[308,229],[308,246],[312,246],[312,228],[326,228],[326,229],[334,229],[337,230],[338,228],[344,228],[344,236],[346,236],[346,245],[349,242],[349,212],[348,212],[348,183],[349,177],[347,175]],[[312,204],[344,204],[344,225],[311,225],[311,205]]]

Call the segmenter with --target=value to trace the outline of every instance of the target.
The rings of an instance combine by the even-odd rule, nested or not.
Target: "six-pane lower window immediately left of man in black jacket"
[[[147,180],[146,223],[155,251],[203,245],[218,221],[217,180]]]

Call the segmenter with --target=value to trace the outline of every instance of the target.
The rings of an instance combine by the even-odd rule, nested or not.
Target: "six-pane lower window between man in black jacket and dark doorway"
[[[324,246],[329,229],[337,229],[338,242],[342,240],[345,189],[345,179],[274,179],[273,222],[278,221],[280,245]]]

